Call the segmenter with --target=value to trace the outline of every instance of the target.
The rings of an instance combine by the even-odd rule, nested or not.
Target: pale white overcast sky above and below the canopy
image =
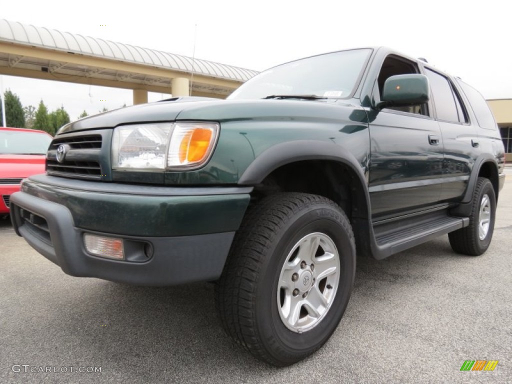
[[[23,0],[0,17],[262,71],[292,59],[362,46],[425,57],[487,99],[512,98],[507,1]],[[105,25],[105,26],[101,26]],[[43,99],[76,119],[132,104],[132,91],[2,76],[24,106]],[[150,101],[168,97],[150,94]],[[106,101],[100,101],[106,100]]]

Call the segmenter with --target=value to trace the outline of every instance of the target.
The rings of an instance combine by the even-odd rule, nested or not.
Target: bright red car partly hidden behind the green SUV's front
[[[0,216],[9,214],[9,197],[22,179],[45,172],[51,141],[44,131],[0,127]]]

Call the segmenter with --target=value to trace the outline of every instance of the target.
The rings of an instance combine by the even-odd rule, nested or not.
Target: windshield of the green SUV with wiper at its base
[[[368,48],[356,49],[288,62],[254,76],[228,99],[262,99],[272,95],[349,97],[370,52]]]

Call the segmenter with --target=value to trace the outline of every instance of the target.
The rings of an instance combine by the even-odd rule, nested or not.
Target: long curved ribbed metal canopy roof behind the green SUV
[[[124,63],[134,63],[138,66],[142,65],[161,70],[182,72],[183,77],[194,73],[194,75],[230,80],[238,84],[258,74],[257,71],[233,67],[218,62],[197,58],[193,59],[187,56],[122,44],[101,38],[60,32],[55,29],[34,27],[33,25],[11,22],[6,19],[0,19],[0,42],[11,43],[16,46],[60,51],[68,55],[79,54],[103,60],[115,60]],[[23,54],[19,55],[20,57],[16,57],[16,55],[13,54],[6,55],[5,52],[2,53],[3,52],[0,50],[0,67],[8,66],[12,68],[18,66],[18,68],[36,70],[35,68],[29,68],[29,66],[45,65],[44,62],[41,62],[41,57],[37,59],[32,58],[32,60],[30,60]],[[2,61],[4,61],[4,63],[2,63]],[[139,76],[136,71],[132,70],[116,71],[114,73],[112,69],[102,69],[101,67],[84,69],[83,66],[73,65],[72,63],[66,62],[64,59],[52,59],[52,62],[48,62],[47,65],[51,69],[51,73],[55,72],[79,76],[80,72],[82,72],[82,76],[87,77],[102,77],[114,81],[128,80],[132,83],[140,82],[143,84],[149,82],[158,85],[159,82],[162,82],[161,85],[167,88],[169,87],[169,77],[176,77],[174,75],[167,78],[165,78],[165,76],[159,78],[158,76],[148,76],[147,73],[144,76]],[[40,68],[38,70],[41,71]],[[196,77],[194,77],[194,79],[196,79]],[[196,84],[194,84],[194,86],[196,86]],[[236,87],[230,87],[231,89],[229,90],[222,90],[221,88],[222,86],[220,86],[219,83],[211,89],[204,81],[203,83],[199,81],[197,84],[198,92],[210,92],[220,95],[229,94]],[[193,89],[196,89],[196,87],[193,87]]]

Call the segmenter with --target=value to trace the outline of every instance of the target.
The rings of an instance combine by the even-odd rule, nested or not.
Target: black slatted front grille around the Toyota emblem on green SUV
[[[101,143],[101,135],[56,138],[46,155],[47,173],[72,178],[101,179]],[[66,154],[63,161],[59,162],[57,148],[61,144],[65,144]]]

